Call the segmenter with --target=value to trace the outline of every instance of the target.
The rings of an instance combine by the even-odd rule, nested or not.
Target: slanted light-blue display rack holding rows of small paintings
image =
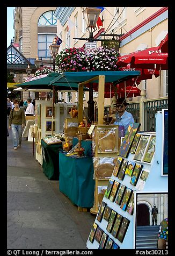
[[[138,132],[139,126],[129,125],[116,154],[112,175],[86,243],[89,249],[135,248],[136,194],[167,190],[167,180],[163,187],[149,186],[152,177],[161,179],[155,161],[156,133]]]

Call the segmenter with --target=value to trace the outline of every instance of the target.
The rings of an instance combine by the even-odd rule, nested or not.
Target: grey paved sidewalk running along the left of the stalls
[[[8,122],[8,118],[7,118]],[[8,124],[8,123],[7,123]],[[13,150],[7,137],[7,248],[87,249],[96,216],[78,211],[33,157],[32,142]]]

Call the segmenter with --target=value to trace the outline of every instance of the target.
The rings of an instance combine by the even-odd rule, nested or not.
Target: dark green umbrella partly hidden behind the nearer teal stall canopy
[[[50,85],[50,82],[56,78],[59,77],[59,73],[52,72],[48,74],[46,77],[42,77],[40,79],[36,80],[31,80],[25,83],[20,83],[18,84],[19,87],[21,88],[26,88],[26,89],[53,89],[53,86],[55,86],[56,91],[78,91],[78,83],[54,83]],[[84,88],[85,91],[88,91],[88,88]]]

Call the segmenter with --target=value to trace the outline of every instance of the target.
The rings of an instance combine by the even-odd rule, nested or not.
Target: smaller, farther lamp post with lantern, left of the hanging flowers
[[[55,72],[55,60],[56,60],[56,55],[59,52],[60,45],[56,44],[56,38],[53,39],[52,45],[49,45],[50,49],[50,55],[53,58],[53,70]],[[55,86],[53,86],[53,115],[52,115],[52,135],[53,135],[53,128],[54,128],[54,107],[55,107]]]

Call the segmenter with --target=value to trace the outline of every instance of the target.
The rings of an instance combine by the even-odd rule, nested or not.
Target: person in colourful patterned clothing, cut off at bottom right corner
[[[168,218],[163,219],[158,230],[158,249],[168,248],[168,234],[169,234],[169,221]]]

